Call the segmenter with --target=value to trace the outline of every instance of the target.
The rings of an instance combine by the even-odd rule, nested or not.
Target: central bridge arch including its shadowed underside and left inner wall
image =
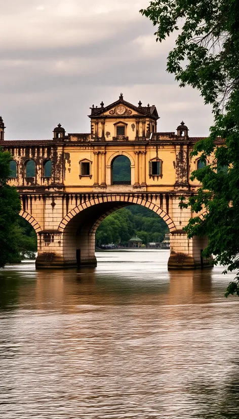
[[[163,218],[170,231],[176,230],[171,217],[160,207],[160,197],[90,194],[71,209],[58,225],[58,232],[62,234],[63,263],[68,266],[96,266],[95,232],[99,224],[116,209],[134,204],[151,209]]]

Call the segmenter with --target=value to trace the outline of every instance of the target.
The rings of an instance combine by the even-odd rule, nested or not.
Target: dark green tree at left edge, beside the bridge
[[[7,184],[11,160],[11,154],[0,148],[0,267],[18,253],[15,228],[21,202],[16,188]]]

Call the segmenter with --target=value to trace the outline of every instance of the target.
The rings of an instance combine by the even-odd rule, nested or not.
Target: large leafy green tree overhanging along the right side
[[[185,228],[188,237],[207,235],[204,256],[216,255],[214,263],[226,266],[225,273],[239,269],[239,7],[236,0],[157,0],[140,11],[157,26],[156,41],[177,32],[175,48],[169,53],[167,71],[180,86],[198,89],[211,104],[214,125],[207,139],[198,142],[192,155],[202,160],[215,153],[215,161],[195,170],[192,179],[202,187],[181,206],[191,207],[195,217]],[[223,147],[215,144],[224,138]],[[223,168],[223,170],[222,170]],[[239,275],[226,296],[239,296]]]

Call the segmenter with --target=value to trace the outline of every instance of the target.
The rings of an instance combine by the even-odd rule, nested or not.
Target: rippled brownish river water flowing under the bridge
[[[222,268],[105,251],[0,269],[1,419],[239,418],[239,298]]]

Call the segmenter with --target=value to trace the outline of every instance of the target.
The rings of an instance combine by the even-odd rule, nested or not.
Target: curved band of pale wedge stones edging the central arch
[[[68,222],[75,217],[80,212],[84,211],[84,209],[91,207],[93,205],[98,205],[101,203],[107,203],[107,202],[115,202],[115,207],[122,207],[126,206],[127,204],[138,204],[145,206],[149,209],[151,209],[154,213],[156,213],[158,216],[163,218],[163,220],[166,222],[166,224],[169,227],[170,231],[176,230],[176,226],[171,219],[171,217],[156,203],[152,203],[148,199],[144,199],[142,197],[134,197],[129,195],[109,195],[109,196],[102,196],[102,197],[96,197],[92,199],[88,199],[82,204],[77,205],[75,208],[73,208],[61,221],[59,224],[58,230],[64,231],[65,227],[67,226]],[[113,210],[112,210],[113,211]],[[112,212],[111,211],[111,212]]]

